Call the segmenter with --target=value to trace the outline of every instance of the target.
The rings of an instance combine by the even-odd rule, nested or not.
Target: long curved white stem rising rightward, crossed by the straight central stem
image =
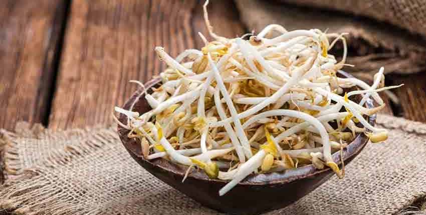
[[[256,104],[255,106],[251,107],[250,109],[239,113],[237,115],[237,119],[245,118],[249,115],[252,115],[252,114],[260,111],[264,107],[268,106],[269,104],[277,101],[281,96],[283,96],[286,92],[288,92],[288,90],[291,86],[293,86],[295,83],[298,82],[298,80],[302,76],[302,74],[307,69],[309,69],[308,67],[311,67],[313,60],[314,59],[312,57],[309,58],[305,64],[303,64],[301,67],[299,67],[299,68],[297,68],[293,71],[293,76],[278,91],[276,91],[274,94],[272,94],[270,97],[268,97],[267,99],[265,99],[261,103]],[[223,126],[224,122],[231,122],[232,120],[233,120],[232,118],[227,118],[225,120],[213,123],[211,126]]]

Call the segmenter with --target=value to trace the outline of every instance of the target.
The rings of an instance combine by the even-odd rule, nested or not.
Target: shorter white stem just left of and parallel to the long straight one
[[[215,90],[216,109],[218,110],[219,117],[221,117],[221,119],[225,119],[225,118],[227,118],[227,115],[226,115],[225,110],[222,106],[219,92],[220,92],[219,86],[216,86],[216,90]],[[235,151],[237,152],[238,159],[240,160],[240,162],[244,163],[246,161],[246,156],[244,154],[241,143],[238,140],[237,135],[235,134],[234,129],[232,128],[232,126],[229,122],[225,123],[224,127],[225,127],[225,130],[227,131],[227,133],[228,133],[228,135],[231,139],[232,144],[235,147]]]

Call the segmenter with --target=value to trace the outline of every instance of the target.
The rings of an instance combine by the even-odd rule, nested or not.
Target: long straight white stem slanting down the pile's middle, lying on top
[[[210,53],[208,53],[208,62],[210,64],[211,69],[213,70],[216,78],[217,85],[219,86],[219,89],[222,92],[222,95],[225,98],[225,101],[228,105],[228,108],[231,112],[231,118],[234,121],[234,125],[237,131],[237,136],[240,139],[240,142],[243,146],[244,153],[246,154],[247,158],[250,158],[252,154],[252,150],[250,149],[249,139],[247,139],[246,133],[244,132],[243,128],[241,127],[240,119],[237,118],[237,110],[235,109],[234,103],[231,100],[231,97],[229,96],[228,90],[225,87],[224,81],[221,77],[221,74],[219,73],[218,67],[215,65],[213,60],[211,59]]]

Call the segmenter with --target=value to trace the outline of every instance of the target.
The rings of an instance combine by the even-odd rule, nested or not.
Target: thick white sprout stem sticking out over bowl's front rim
[[[219,195],[225,195],[229,190],[234,188],[240,181],[242,181],[247,175],[251,174],[262,164],[263,158],[265,157],[265,150],[259,150],[255,155],[253,155],[247,162],[241,164],[238,168],[237,173],[234,175],[234,179],[228,182],[224,187],[219,190]]]

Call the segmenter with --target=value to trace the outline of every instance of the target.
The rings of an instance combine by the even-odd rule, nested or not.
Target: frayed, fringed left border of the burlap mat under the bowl
[[[99,132],[92,133],[87,141],[81,141],[78,145],[66,145],[65,147],[52,148],[48,159],[39,160],[36,168],[25,168],[24,163],[18,159],[18,141],[20,138],[43,138],[52,135],[48,129],[37,124],[30,128],[26,122],[19,122],[16,133],[7,130],[0,130],[0,143],[3,144],[3,166],[6,176],[5,183],[0,187],[0,208],[13,210],[17,214],[99,214],[101,208],[94,204],[93,207],[76,206],[76,199],[68,199],[57,203],[56,199],[63,198],[67,194],[63,193],[63,187],[58,186],[55,178],[45,177],[43,172],[48,172],[55,166],[69,162],[70,160],[83,157],[106,144],[115,144],[107,138],[114,138],[117,134],[114,127],[104,125],[94,126],[85,129],[72,129],[56,131],[53,135],[73,136],[76,133],[86,133],[94,128],[100,128]],[[31,179],[31,183],[23,182]],[[23,195],[25,193],[25,195]],[[53,203],[55,202],[55,203]]]

